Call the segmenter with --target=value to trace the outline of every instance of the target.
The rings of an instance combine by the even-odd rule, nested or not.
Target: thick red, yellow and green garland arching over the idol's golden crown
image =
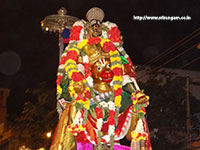
[[[90,89],[87,87],[87,81],[85,77],[79,72],[77,68],[77,59],[79,57],[79,50],[82,49],[86,44],[92,45],[92,44],[99,44],[102,46],[103,50],[110,55],[110,61],[111,61],[111,70],[114,73],[113,77],[113,92],[114,92],[114,102],[116,107],[121,107],[121,94],[122,94],[122,69],[121,69],[121,58],[120,54],[117,51],[116,47],[112,44],[112,42],[109,39],[102,39],[100,37],[90,38],[82,40],[77,44],[77,46],[71,47],[68,49],[67,54],[63,55],[61,59],[61,63],[64,64],[64,69],[66,74],[68,75],[68,78],[71,79],[69,84],[69,94],[70,96],[81,106],[86,108],[85,111],[87,111],[90,107]],[[87,62],[86,62],[87,63]],[[89,66],[88,66],[89,67]],[[88,73],[87,76],[90,74]],[[59,82],[61,80],[61,76],[58,76],[57,79],[57,93],[62,93],[62,88],[59,85]],[[77,94],[74,90],[74,84],[76,82],[83,82],[85,85],[84,92],[82,94]],[[110,112],[111,113],[111,112]],[[113,114],[111,113],[110,116],[113,117]],[[83,122],[86,122],[87,116],[83,118]],[[110,124],[113,124],[113,120],[109,117],[108,119],[110,121]],[[84,126],[84,124],[83,124]],[[78,125],[71,125],[69,128],[76,133],[77,131],[82,130],[82,126]],[[110,128],[110,134],[113,127]]]

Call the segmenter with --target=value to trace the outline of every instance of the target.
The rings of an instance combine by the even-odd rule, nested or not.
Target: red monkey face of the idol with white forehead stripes
[[[111,70],[111,64],[109,59],[99,59],[93,66],[93,79],[94,82],[110,83],[113,79],[114,73]]]

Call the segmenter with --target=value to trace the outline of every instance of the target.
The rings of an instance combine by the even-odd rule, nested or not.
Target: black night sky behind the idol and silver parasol
[[[200,27],[198,0],[1,0],[0,1],[0,87],[11,89],[8,113],[18,114],[25,101],[24,91],[42,81],[55,87],[58,66],[58,35],[44,33],[40,21],[65,7],[68,15],[85,19],[91,7],[105,12],[104,21],[116,23],[124,48],[134,64],[142,65]],[[136,16],[190,16],[188,21],[136,21]],[[193,38],[171,55],[153,64],[159,66],[193,44]],[[193,48],[165,67],[180,68],[200,55]],[[185,69],[200,69],[200,61]]]

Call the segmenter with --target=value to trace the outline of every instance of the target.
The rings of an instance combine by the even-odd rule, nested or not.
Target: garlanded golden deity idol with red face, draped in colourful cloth
[[[74,23],[58,67],[59,123],[51,150],[151,150],[145,120],[149,97],[139,90],[116,24],[91,8]],[[122,138],[130,147],[120,145]]]

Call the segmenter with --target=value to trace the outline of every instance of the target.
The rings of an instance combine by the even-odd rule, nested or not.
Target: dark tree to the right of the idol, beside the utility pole
[[[140,82],[150,96],[147,120],[153,149],[177,150],[186,140],[185,78],[174,73],[149,73],[146,82]]]

